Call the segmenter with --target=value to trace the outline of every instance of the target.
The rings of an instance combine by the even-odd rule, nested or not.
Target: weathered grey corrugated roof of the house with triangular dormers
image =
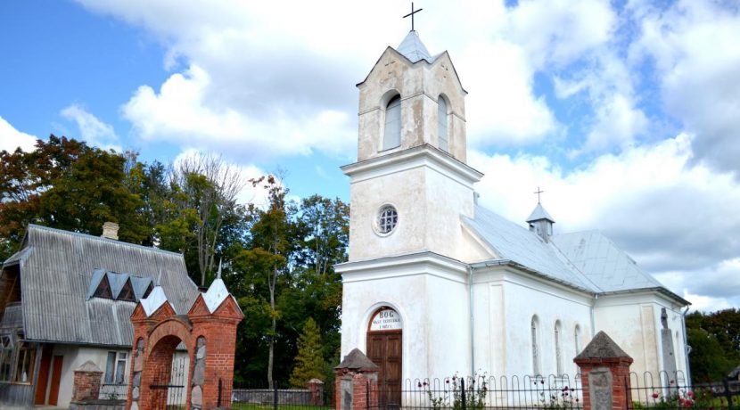
[[[102,277],[97,272],[128,272],[151,281],[161,271],[161,286],[178,313],[190,308],[198,296],[183,256],[174,252],[38,225],[29,225],[25,243],[33,248],[21,269],[25,332],[30,340],[131,346],[129,317],[136,303],[88,300],[94,276],[98,282]]]

